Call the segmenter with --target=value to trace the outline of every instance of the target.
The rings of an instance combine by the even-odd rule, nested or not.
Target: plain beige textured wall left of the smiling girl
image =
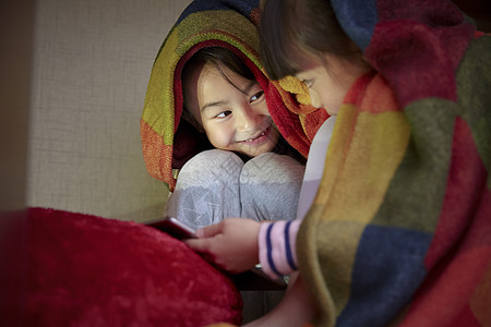
[[[36,2],[28,206],[161,214],[167,190],[146,172],[139,121],[153,60],[189,2]]]

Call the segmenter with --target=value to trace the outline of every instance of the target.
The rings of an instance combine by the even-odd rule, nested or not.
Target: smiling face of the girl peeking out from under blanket
[[[184,84],[187,109],[216,148],[250,157],[273,150],[279,132],[267,111],[263,89],[258,82],[225,65],[219,68],[224,74],[208,62],[192,73]]]

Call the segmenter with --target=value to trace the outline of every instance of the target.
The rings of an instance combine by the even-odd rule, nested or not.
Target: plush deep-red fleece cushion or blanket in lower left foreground
[[[240,324],[232,282],[187,245],[131,221],[32,208],[26,326]]]

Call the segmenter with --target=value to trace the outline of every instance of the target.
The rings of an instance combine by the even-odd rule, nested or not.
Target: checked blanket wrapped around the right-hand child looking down
[[[316,323],[491,326],[491,37],[451,1],[332,3],[376,72],[299,231]]]

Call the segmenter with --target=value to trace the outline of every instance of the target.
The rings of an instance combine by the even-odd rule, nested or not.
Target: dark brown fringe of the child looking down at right
[[[260,39],[261,60],[272,80],[295,75],[309,56],[361,57],[337,22],[330,0],[264,1]]]

